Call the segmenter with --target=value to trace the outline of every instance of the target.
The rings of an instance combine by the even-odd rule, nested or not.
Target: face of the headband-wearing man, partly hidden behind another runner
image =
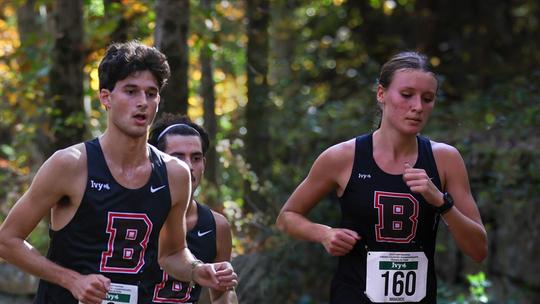
[[[204,173],[206,159],[202,153],[199,136],[170,134],[167,136],[165,153],[186,162],[191,170],[192,192],[195,192]]]

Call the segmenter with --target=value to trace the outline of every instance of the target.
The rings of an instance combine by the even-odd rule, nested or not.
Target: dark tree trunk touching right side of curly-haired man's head
[[[171,77],[161,92],[160,112],[186,114],[188,109],[189,0],[157,0],[155,46],[167,56]]]

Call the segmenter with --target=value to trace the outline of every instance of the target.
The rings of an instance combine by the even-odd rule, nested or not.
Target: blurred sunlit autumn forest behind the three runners
[[[539,37],[536,0],[0,1],[0,221],[53,151],[103,131],[99,60],[138,39],[169,58],[161,111],[212,135],[198,199],[232,223],[240,302],[326,303],[336,259],[275,218],[321,151],[373,130],[381,64],[418,50],[440,79],[424,134],[461,151],[489,236],[475,264],[441,225],[439,302],[539,303]],[[336,198],[310,217],[335,225]],[[29,241],[46,252],[46,221]],[[35,282],[0,262],[9,303]]]

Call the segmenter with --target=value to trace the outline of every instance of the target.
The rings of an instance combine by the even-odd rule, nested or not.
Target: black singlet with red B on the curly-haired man
[[[127,189],[112,176],[99,140],[85,142],[88,180],[73,219],[49,229],[47,257],[81,274],[102,274],[113,283],[138,286],[139,303],[152,303],[159,271],[158,236],[171,195],[162,152],[148,145],[152,173],[139,189]],[[41,280],[34,303],[77,303],[69,290]]]

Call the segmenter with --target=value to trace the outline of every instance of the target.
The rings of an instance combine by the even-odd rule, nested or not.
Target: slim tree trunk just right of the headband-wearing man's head
[[[210,18],[211,12],[211,0],[201,1],[201,6],[204,11],[204,15]],[[218,161],[216,155],[216,98],[214,93],[214,78],[212,68],[212,50],[209,46],[209,41],[212,40],[211,32],[205,32],[202,37],[202,46],[200,51],[200,63],[201,63],[201,96],[203,98],[204,105],[204,127],[208,132],[210,139],[210,148],[206,154],[206,169],[205,177],[213,185],[218,184]]]

